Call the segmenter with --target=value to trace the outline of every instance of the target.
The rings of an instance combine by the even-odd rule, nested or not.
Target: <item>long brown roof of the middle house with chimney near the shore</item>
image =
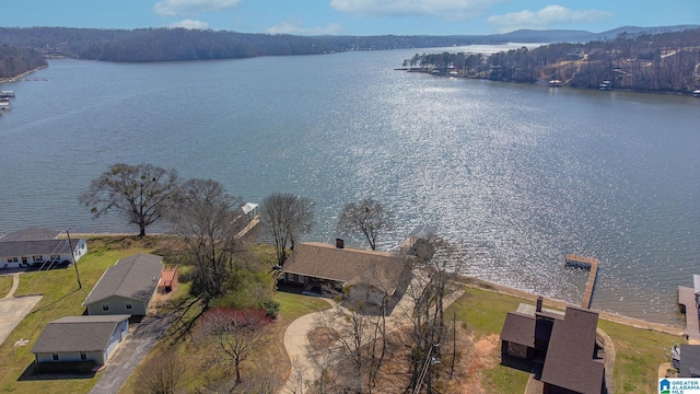
[[[330,279],[347,285],[372,285],[394,293],[405,265],[392,253],[338,248],[324,243],[302,243],[282,269],[314,278]]]

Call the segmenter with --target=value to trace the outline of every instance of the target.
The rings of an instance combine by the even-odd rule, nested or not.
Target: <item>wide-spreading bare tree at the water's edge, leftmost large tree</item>
[[[177,172],[152,164],[116,163],[90,183],[88,192],[79,196],[95,218],[116,210],[139,227],[145,228],[167,212],[171,197],[177,188]]]

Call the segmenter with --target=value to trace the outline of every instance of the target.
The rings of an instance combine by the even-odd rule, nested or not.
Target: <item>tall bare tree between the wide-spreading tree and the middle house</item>
[[[246,224],[242,199],[215,181],[194,178],[182,185],[174,202],[168,219],[195,265],[194,290],[208,304],[224,293],[234,254],[243,248],[237,239]]]

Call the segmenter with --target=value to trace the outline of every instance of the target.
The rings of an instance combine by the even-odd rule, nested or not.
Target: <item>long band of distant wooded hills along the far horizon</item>
[[[30,48],[46,57],[66,56],[103,61],[173,61],[255,56],[316,55],[345,50],[452,47],[502,43],[586,43],[618,34],[675,32],[689,26],[620,27],[604,33],[528,31],[453,36],[294,36],[185,28],[96,30],[69,27],[0,27],[0,45]],[[699,27],[699,26],[695,26]],[[3,55],[0,55],[3,56]],[[0,57],[0,61],[5,59]],[[7,72],[8,67],[5,67]],[[10,72],[18,72],[13,68]]]

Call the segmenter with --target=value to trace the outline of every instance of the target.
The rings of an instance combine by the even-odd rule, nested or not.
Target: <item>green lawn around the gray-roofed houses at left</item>
[[[78,262],[82,289],[78,288],[74,268],[24,273],[15,297],[40,294],[39,303],[15,327],[0,346],[0,392],[3,393],[88,393],[100,378],[33,380],[25,370],[34,361],[30,352],[46,324],[56,318],[80,315],[85,297],[104,270],[118,258],[135,253],[151,252],[152,243],[131,237],[97,239],[88,243],[89,253]],[[13,347],[20,338],[30,339],[25,347]]]

